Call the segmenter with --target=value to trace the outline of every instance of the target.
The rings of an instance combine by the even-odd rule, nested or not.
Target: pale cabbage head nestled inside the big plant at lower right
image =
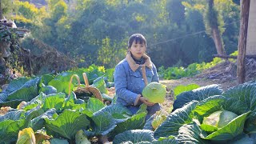
[[[222,128],[223,126],[226,126],[229,122],[231,122],[234,118],[237,117],[238,114],[234,114],[231,111],[218,110],[215,111],[213,114],[210,114],[210,116],[203,118],[202,124]]]

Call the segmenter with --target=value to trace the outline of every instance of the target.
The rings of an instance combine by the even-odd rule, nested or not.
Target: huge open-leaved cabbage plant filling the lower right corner
[[[149,130],[148,126],[144,128]],[[225,92],[219,85],[210,85],[179,94],[174,111],[154,130],[153,140],[139,142],[159,143],[166,139],[171,140],[168,143],[256,143],[255,130],[256,82],[247,82]],[[130,142],[139,143],[135,141],[138,135]],[[116,137],[118,142],[128,142],[120,139]]]

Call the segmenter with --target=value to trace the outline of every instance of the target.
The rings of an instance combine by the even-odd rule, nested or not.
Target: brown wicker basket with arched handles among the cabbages
[[[95,97],[95,98],[98,98],[100,101],[103,102],[102,94],[101,94],[101,92],[98,90],[98,88],[89,85],[89,82],[88,82],[88,78],[87,78],[87,76],[86,76],[86,73],[82,73],[82,77],[83,77],[83,79],[84,79],[84,81],[85,81],[86,87],[80,87],[81,82],[80,82],[80,78],[78,77],[77,74],[73,74],[73,75],[71,76],[71,78],[70,78],[70,85],[69,85],[69,95],[70,95],[70,93],[71,93],[70,87],[71,87],[71,83],[72,83],[72,80],[73,80],[74,77],[77,78],[77,80],[78,80],[78,89],[77,89],[77,90],[74,90],[74,93],[79,93],[79,94],[81,94],[81,93],[92,93],[92,94],[94,94],[94,97]]]

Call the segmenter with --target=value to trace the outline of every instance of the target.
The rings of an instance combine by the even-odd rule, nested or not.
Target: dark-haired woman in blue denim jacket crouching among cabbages
[[[158,103],[148,102],[142,96],[147,83],[158,82],[157,69],[146,54],[146,38],[142,34],[133,34],[128,41],[128,53],[114,70],[114,86],[118,96],[117,103],[126,106],[135,114],[139,106],[145,103],[148,114],[146,119],[160,110]],[[143,73],[144,77],[143,77]]]

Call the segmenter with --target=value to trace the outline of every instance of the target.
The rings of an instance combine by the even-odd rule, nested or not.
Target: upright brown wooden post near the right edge
[[[238,84],[245,82],[245,79],[246,79],[245,58],[246,58],[246,40],[247,40],[249,10],[250,10],[250,0],[242,0],[240,32],[239,32],[239,41],[238,41],[238,69],[237,69]]]

